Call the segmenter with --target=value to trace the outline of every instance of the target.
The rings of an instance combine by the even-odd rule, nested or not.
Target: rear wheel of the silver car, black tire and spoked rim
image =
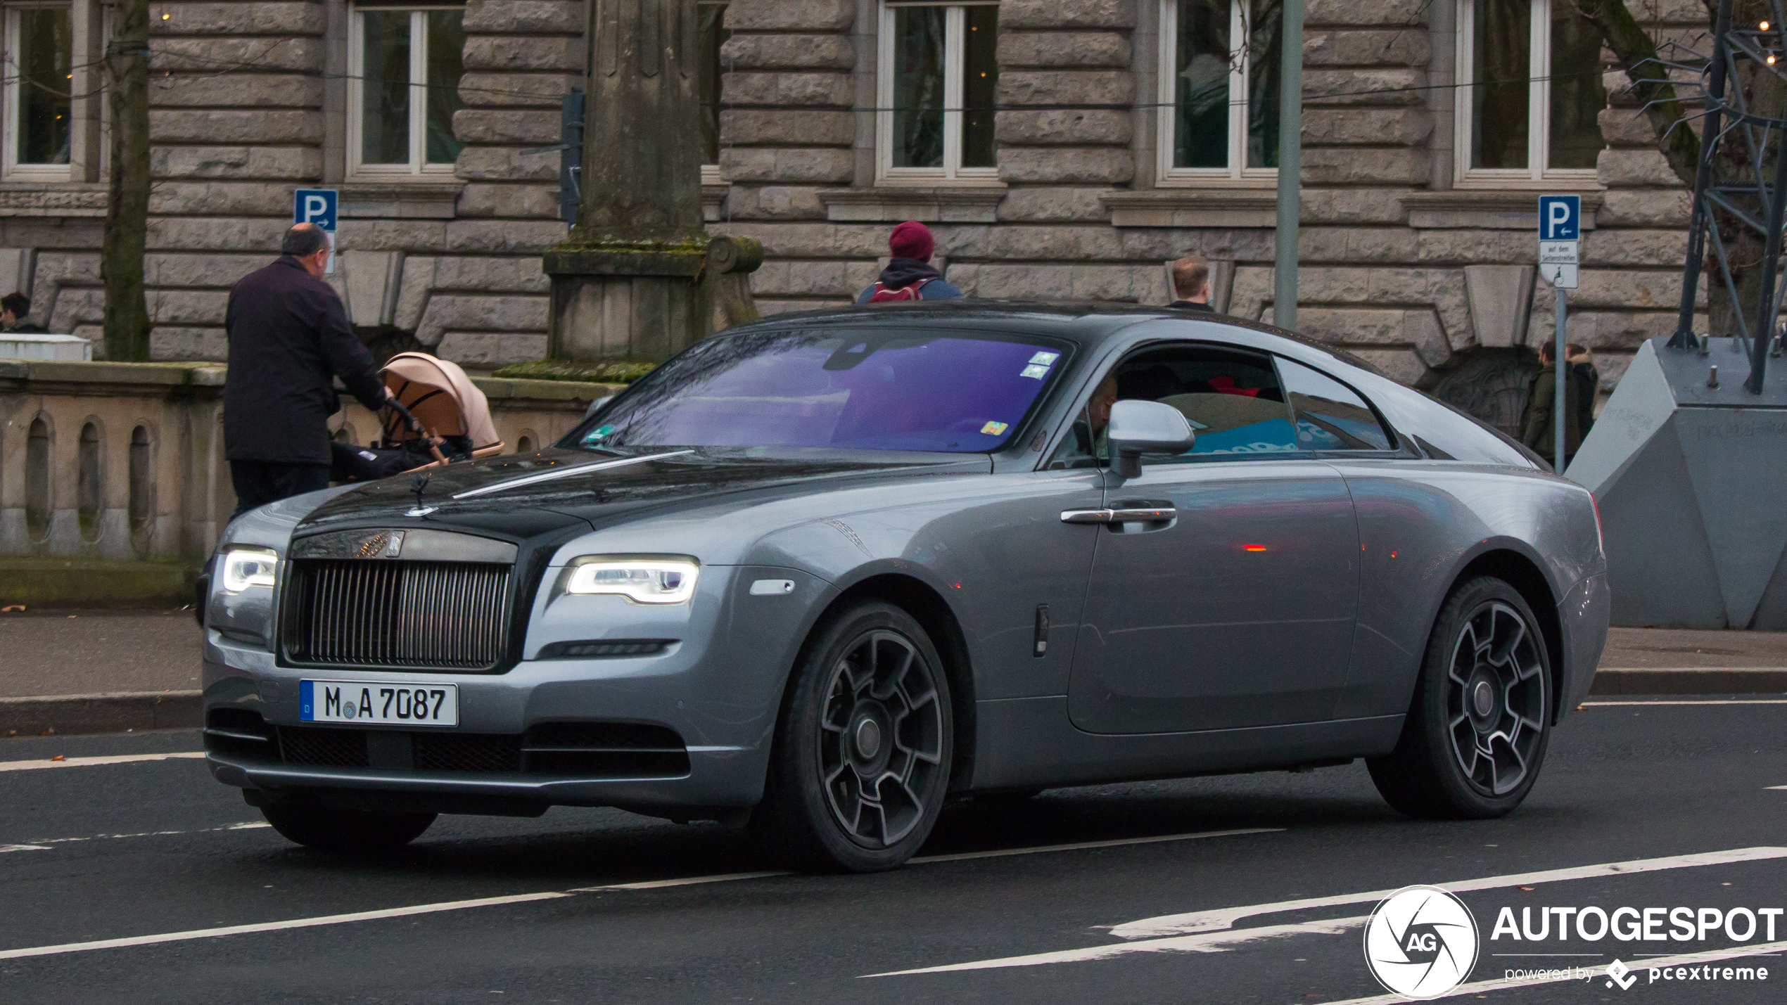
[[[1396,750],[1365,760],[1378,793],[1419,819],[1489,819],[1521,805],[1551,739],[1551,662],[1506,582],[1453,587],[1428,639]]]

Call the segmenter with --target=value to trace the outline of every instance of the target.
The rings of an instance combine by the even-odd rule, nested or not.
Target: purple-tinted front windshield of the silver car
[[[1067,345],[888,328],[722,336],[643,377],[565,446],[999,450]]]

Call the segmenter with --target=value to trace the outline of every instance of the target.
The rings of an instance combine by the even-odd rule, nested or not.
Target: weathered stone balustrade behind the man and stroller
[[[236,509],[218,362],[0,361],[0,605],[188,596]],[[504,452],[568,432],[609,384],[474,377]],[[334,418],[370,443],[357,402]]]

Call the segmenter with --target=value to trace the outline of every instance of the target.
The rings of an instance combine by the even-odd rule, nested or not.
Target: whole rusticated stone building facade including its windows
[[[107,5],[0,7],[0,287],[98,337]],[[1163,262],[1196,252],[1221,307],[1272,316],[1276,0],[699,7],[709,228],[763,241],[765,314],[851,300],[888,228],[922,220],[970,296],[1165,303]],[[1660,37],[1705,27],[1699,0],[1628,7]],[[541,357],[540,252],[566,225],[538,148],[586,16],[154,0],[155,359],[225,355],[227,289],[277,250],[295,187],[341,193],[334,280],[368,341],[472,370]],[[1569,336],[1610,386],[1674,327],[1689,193],[1605,66],[1565,0],[1308,0],[1303,330],[1508,425],[1551,330],[1537,195],[1574,191]],[[34,96],[64,71],[66,100]]]

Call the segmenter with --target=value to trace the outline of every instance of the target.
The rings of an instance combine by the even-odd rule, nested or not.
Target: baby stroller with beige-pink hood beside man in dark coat
[[[490,402],[457,362],[400,352],[379,377],[391,389],[391,402],[379,409],[379,444],[332,443],[332,480],[372,482],[502,452]]]

